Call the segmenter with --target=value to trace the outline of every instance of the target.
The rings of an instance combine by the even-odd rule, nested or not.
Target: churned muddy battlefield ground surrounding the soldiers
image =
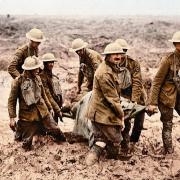
[[[179,30],[179,17],[41,17],[0,16],[0,179],[180,179],[180,119],[174,113],[173,156],[161,155],[162,124],[159,114],[146,116],[135,155],[130,159],[108,160],[86,167],[84,159],[88,146],[84,143],[56,144],[50,137],[41,137],[34,150],[24,152],[14,142],[8,126],[7,99],[11,77],[7,65],[15,49],[26,43],[25,33],[37,27],[44,31],[47,40],[40,46],[40,55],[53,52],[58,58],[55,72],[61,79],[64,98],[73,96],[78,71],[78,58],[68,51],[71,41],[81,37],[89,47],[102,52],[105,45],[116,38],[127,39],[132,47],[129,54],[141,63],[144,77],[156,72],[159,59],[172,50],[167,40]],[[150,71],[145,72],[146,68]],[[59,123],[63,131],[71,131],[73,120]]]

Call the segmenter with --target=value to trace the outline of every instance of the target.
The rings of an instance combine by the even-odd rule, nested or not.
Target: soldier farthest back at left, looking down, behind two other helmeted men
[[[22,74],[22,65],[28,56],[38,56],[38,47],[45,39],[43,32],[35,28],[26,33],[26,37],[30,40],[29,44],[23,45],[17,49],[13,60],[8,67],[8,72],[14,79]]]

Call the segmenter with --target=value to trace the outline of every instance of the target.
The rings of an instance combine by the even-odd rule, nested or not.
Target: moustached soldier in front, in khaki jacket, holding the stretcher
[[[117,43],[106,46],[105,61],[95,72],[92,97],[87,118],[92,121],[94,143],[86,158],[87,165],[96,163],[106,147],[108,156],[116,158],[124,127],[124,112],[120,104],[120,81],[118,64],[124,54]]]

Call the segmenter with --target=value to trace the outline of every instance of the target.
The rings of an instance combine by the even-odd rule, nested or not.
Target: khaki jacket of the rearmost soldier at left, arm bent
[[[24,60],[28,56],[33,56],[33,55],[38,56],[38,51],[30,48],[29,45],[27,44],[23,45],[22,47],[16,50],[13,60],[11,61],[8,67],[8,72],[12,76],[12,78],[15,79],[20,74],[22,74],[23,72],[22,65],[24,63]]]

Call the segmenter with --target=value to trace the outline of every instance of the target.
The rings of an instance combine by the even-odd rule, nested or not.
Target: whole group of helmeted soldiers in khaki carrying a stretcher
[[[15,140],[22,141],[22,147],[29,150],[37,134],[49,134],[56,141],[66,141],[58,127],[58,118],[62,120],[62,113],[68,108],[63,105],[59,78],[52,72],[57,59],[52,53],[38,57],[38,46],[45,39],[42,31],[31,29],[26,37],[29,44],[16,51],[8,67],[14,79],[8,111]],[[180,113],[180,32],[176,32],[170,41],[175,51],[162,58],[148,103],[140,64],[127,55],[130,47],[124,39],[108,44],[102,53],[104,58],[87,48],[88,44],[82,39],[72,42],[71,50],[77,53],[80,62],[77,97],[70,107],[73,114],[76,114],[77,102],[92,91],[86,118],[92,123],[94,142],[86,157],[87,165],[97,162],[104,150],[109,158],[115,158],[120,147],[122,152],[131,153],[139,141],[145,111],[134,117],[130,135],[131,121],[123,112],[121,97],[134,104],[147,105],[149,113],[156,112],[157,108],[160,110],[164,154],[173,153],[173,110]],[[16,122],[17,100],[19,114]]]

